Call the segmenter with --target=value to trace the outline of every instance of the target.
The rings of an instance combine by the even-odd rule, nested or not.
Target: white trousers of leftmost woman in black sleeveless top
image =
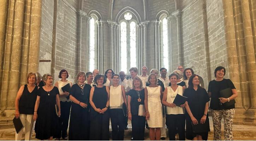
[[[30,141],[31,131],[32,131],[33,122],[34,122],[33,115],[19,114],[19,118],[21,119],[21,122],[25,128],[25,141]],[[18,134],[17,133],[15,134],[16,141],[21,140],[23,129]]]

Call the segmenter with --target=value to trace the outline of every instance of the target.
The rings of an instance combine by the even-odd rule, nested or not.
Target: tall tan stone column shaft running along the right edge
[[[254,41],[252,36],[251,16],[249,0],[241,1],[241,9],[243,15],[243,27],[245,38],[246,60],[248,68],[248,78],[250,86],[251,106],[256,108],[256,63]]]

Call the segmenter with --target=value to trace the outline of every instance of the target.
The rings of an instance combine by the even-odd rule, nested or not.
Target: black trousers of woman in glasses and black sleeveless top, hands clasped
[[[98,112],[96,111],[90,111],[90,112],[91,114],[92,112],[94,112],[93,116],[91,117],[90,140],[108,141],[109,140],[109,109],[104,114],[98,114]]]

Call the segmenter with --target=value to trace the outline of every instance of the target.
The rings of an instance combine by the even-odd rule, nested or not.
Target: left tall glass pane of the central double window
[[[121,29],[121,71],[127,73],[127,37],[126,22],[120,24]]]

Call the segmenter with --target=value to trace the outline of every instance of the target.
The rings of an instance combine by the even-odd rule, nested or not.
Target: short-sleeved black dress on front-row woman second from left
[[[48,94],[42,87],[38,89],[40,96],[39,108],[37,110],[37,119],[35,124],[36,139],[47,140],[58,135],[59,121],[56,114],[55,104],[56,95],[59,94],[57,87]]]

